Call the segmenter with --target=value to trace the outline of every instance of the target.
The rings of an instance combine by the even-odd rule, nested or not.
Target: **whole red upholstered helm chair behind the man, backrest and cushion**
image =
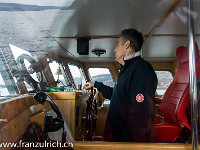
[[[199,51],[196,43],[195,52],[197,77],[200,77],[200,69],[197,69],[200,68]],[[186,113],[186,109],[190,107],[188,48],[178,47],[176,58],[180,66],[160,103],[163,117],[156,116],[155,141],[157,142],[174,142],[183,126],[191,130]]]

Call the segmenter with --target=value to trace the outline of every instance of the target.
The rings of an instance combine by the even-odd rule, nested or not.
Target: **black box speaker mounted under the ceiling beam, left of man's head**
[[[79,55],[89,54],[89,38],[80,37],[77,39],[77,53]]]

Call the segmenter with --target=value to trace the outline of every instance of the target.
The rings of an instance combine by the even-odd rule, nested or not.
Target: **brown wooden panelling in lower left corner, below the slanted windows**
[[[17,141],[30,124],[31,116],[49,109],[48,103],[37,104],[28,94],[1,100],[0,142]]]

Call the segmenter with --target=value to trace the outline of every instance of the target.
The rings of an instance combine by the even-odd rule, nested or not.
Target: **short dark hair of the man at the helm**
[[[143,36],[141,32],[135,29],[125,29],[121,31],[120,37],[122,37],[122,43],[130,41],[130,47],[135,52],[140,51],[143,45]]]

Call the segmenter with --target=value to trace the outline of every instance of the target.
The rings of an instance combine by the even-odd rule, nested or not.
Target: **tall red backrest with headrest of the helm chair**
[[[200,77],[199,51],[196,43],[195,53],[197,77]],[[160,110],[167,120],[191,129],[186,113],[186,109],[190,107],[188,47],[178,47],[176,58],[180,65],[175,73],[174,80],[163,95]]]

